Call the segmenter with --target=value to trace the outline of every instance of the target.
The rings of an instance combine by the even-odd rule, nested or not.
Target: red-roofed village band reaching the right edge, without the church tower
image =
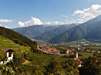
[[[66,56],[69,56],[69,57],[75,55],[75,51],[78,51],[78,52],[88,52],[88,53],[96,53],[96,52],[97,53],[101,53],[101,50],[89,50],[89,49],[84,50],[84,49],[80,49],[79,47],[77,47],[77,49],[68,49],[67,48],[65,50],[65,53],[64,54],[61,54],[60,53],[60,50],[58,50],[58,49],[56,49],[54,47],[51,47],[50,48],[49,44],[43,45],[41,47],[39,47],[37,45],[37,48],[36,49],[38,49],[38,50],[40,50],[40,51],[42,51],[42,52],[44,52],[46,54],[55,54],[55,55],[59,55],[59,56],[65,56],[66,55]]]

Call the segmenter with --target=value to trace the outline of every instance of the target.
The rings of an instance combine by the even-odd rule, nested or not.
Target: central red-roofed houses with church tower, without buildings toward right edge
[[[78,58],[78,52],[75,49],[72,50],[66,49],[65,54],[61,54],[60,50],[57,50],[56,48],[50,48],[48,44],[46,46],[42,46],[42,49],[39,50],[41,50],[43,53],[51,54],[51,55],[55,54],[58,56],[68,56],[68,57],[74,56],[74,60],[78,63],[78,67],[81,67],[82,62]]]

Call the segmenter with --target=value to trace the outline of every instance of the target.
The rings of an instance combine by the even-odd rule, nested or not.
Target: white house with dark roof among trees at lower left
[[[7,60],[4,61],[0,61],[0,64],[7,64],[10,60],[13,60],[13,50],[11,49],[2,49],[2,51],[4,51],[6,53],[7,56]]]

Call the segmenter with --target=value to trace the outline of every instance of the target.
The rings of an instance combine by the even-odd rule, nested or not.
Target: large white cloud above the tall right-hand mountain
[[[80,23],[86,22],[98,15],[101,15],[101,5],[99,4],[94,4],[90,8],[86,8],[83,10],[76,10],[73,14],[73,16],[78,17],[77,20]]]

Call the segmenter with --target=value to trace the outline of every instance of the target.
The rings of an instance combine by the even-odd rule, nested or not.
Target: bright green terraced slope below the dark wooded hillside
[[[20,46],[13,41],[6,39],[2,36],[0,36],[0,49],[13,49],[15,51],[20,50],[21,52],[24,52],[26,50],[29,50],[29,48]]]

